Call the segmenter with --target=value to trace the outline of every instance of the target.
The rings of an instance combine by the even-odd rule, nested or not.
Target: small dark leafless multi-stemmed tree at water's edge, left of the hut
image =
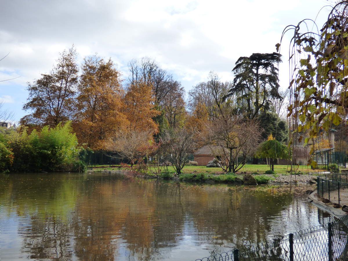
[[[190,155],[197,149],[197,135],[194,129],[175,128],[167,130],[163,137],[168,160],[177,174],[189,162]]]

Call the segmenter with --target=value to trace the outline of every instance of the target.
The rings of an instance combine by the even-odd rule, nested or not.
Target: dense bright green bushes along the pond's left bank
[[[86,171],[70,122],[30,134],[27,128],[1,129],[0,136],[0,172]],[[3,157],[5,149],[10,155]]]

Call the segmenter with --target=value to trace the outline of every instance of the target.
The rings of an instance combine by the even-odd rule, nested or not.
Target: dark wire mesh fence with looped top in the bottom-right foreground
[[[196,259],[196,261],[213,260],[348,260],[348,216],[252,247],[239,248],[221,254],[212,253],[209,257]]]

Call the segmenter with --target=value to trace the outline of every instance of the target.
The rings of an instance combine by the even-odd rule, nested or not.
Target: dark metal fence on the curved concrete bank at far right
[[[318,196],[331,203],[348,205],[348,173],[318,176],[317,183]]]

